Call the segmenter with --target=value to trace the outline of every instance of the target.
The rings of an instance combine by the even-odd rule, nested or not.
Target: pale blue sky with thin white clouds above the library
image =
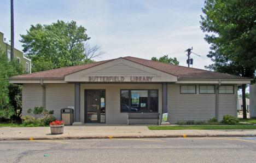
[[[96,61],[133,56],[176,57],[179,65],[188,66],[188,48],[193,68],[204,69],[213,62],[206,57],[210,45],[200,29],[203,0],[168,1],[34,1],[14,0],[14,46],[22,50],[20,34],[31,25],[49,25],[57,20],[76,21],[86,28],[89,44],[106,51]],[[0,31],[10,40],[10,1],[0,1]],[[190,66],[190,67],[191,67]]]

